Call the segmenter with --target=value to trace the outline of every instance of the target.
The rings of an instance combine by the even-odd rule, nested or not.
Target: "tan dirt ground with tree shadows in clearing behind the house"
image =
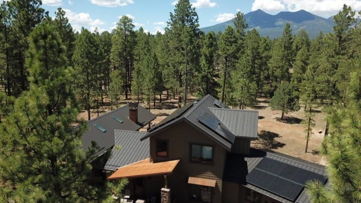
[[[162,95],[162,104],[159,104],[159,96],[156,97],[156,106],[153,106],[151,102],[151,112],[157,116],[152,122],[152,125],[157,124],[162,119],[170,115],[178,108],[177,100],[166,100],[166,94]],[[191,97],[190,100],[195,99]],[[125,100],[122,98],[122,102],[118,107],[127,104],[127,102],[135,101],[136,98],[130,98]],[[145,108],[148,105],[140,103]],[[115,109],[116,107],[113,107]],[[248,108],[252,109],[252,108]],[[301,159],[309,160],[315,163],[325,165],[325,160],[318,154],[319,147],[324,137],[324,131],[326,126],[325,114],[321,113],[320,109],[316,110],[314,120],[316,125],[313,127],[313,133],[310,136],[308,143],[308,152],[305,153],[306,146],[306,133],[305,126],[301,124],[304,119],[304,108],[301,108],[298,112],[291,112],[284,115],[284,120],[280,120],[281,112],[272,111],[269,107],[269,99],[258,99],[257,104],[253,108],[259,112],[258,117],[258,139],[251,142],[252,147],[267,148],[283,154],[299,157]],[[101,105],[99,115],[103,115],[106,112],[111,111],[109,102],[105,98],[104,104]],[[79,114],[79,118],[87,120],[87,112],[82,111]],[[97,117],[96,109],[92,109],[91,118]],[[318,133],[319,131],[322,133]]]

